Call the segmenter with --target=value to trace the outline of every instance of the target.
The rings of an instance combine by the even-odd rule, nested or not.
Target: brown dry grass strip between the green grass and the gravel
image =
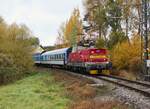
[[[66,96],[72,99],[68,109],[128,109],[118,101],[96,100],[98,89],[89,85],[93,81],[58,71],[53,71],[55,81],[63,83]]]

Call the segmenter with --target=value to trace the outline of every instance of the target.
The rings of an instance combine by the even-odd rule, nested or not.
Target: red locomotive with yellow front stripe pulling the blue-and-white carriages
[[[108,71],[111,68],[111,63],[106,49],[88,48],[70,53],[67,66],[69,69],[97,74]]]

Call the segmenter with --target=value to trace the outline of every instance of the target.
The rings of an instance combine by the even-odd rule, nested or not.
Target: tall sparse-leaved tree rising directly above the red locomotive
[[[107,38],[106,34],[108,32],[108,21],[106,16],[106,3],[107,0],[85,0],[84,6],[86,7],[86,15],[85,20],[92,25],[92,29],[89,31],[88,34],[91,32],[98,33],[98,42],[104,41],[101,44],[107,47]],[[99,42],[100,41],[100,42]],[[97,44],[96,44],[97,45]]]

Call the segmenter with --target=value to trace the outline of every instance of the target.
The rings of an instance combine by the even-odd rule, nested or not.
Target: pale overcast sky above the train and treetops
[[[9,24],[25,24],[44,46],[53,45],[60,24],[82,0],[0,0],[0,16]]]

